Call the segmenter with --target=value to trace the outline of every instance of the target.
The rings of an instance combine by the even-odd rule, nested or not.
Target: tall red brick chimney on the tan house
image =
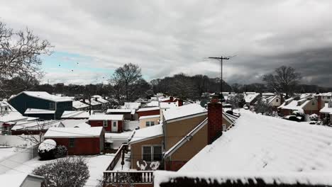
[[[208,103],[208,144],[223,134],[223,105],[217,97]]]

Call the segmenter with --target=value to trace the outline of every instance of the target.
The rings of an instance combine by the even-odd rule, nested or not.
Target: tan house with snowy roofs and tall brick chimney
[[[161,168],[177,171],[231,128],[234,120],[235,116],[222,112],[222,104],[216,100],[209,103],[208,110],[195,103],[170,108],[164,112],[162,124],[135,130],[129,145],[131,154],[138,156],[131,159],[131,169],[144,160],[162,161]]]

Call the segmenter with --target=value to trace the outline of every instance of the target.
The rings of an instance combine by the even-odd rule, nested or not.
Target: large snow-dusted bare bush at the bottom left
[[[34,169],[33,174],[43,176],[43,186],[48,187],[81,187],[90,177],[87,162],[82,157],[56,159]]]

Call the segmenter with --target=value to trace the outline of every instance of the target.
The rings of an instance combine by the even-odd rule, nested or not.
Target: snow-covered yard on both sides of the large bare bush
[[[104,154],[84,158],[87,160],[90,174],[90,177],[85,185],[96,186],[99,183],[99,180],[102,179],[103,171],[106,170],[107,166],[109,166],[111,161],[114,159],[114,154]],[[35,157],[34,159],[31,159],[28,162],[24,162],[20,166],[7,171],[6,174],[31,174],[33,169],[38,168],[38,166],[42,166],[43,164],[48,164],[54,161],[55,160],[40,161],[39,157]]]

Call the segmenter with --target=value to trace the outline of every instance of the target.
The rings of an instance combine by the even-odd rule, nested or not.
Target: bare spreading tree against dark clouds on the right
[[[292,67],[278,67],[272,74],[265,74],[262,80],[267,88],[277,94],[286,94],[286,98],[294,93],[294,88],[299,84],[301,74]]]

